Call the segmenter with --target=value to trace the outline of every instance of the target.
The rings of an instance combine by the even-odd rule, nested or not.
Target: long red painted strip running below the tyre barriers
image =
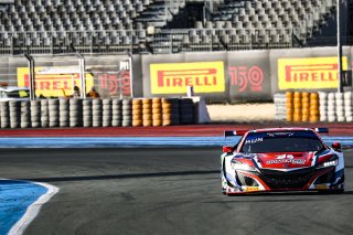
[[[328,127],[329,136],[353,136],[353,124],[212,124],[169,127],[0,129],[0,137],[212,137],[224,130],[270,127]]]

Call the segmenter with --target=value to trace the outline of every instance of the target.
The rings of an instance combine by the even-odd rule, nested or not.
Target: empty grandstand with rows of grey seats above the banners
[[[0,54],[178,53],[306,46],[335,0],[0,1]]]

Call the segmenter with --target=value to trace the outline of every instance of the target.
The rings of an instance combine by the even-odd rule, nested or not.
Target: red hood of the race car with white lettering
[[[314,152],[257,153],[254,158],[261,169],[298,169],[314,164]]]

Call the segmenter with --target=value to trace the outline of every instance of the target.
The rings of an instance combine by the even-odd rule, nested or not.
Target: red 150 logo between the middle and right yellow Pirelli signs
[[[229,66],[231,85],[238,87],[239,93],[245,90],[263,92],[264,71],[259,66]]]

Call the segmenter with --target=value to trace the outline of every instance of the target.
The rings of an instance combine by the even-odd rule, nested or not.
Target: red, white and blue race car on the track
[[[318,133],[328,128],[267,128],[225,131],[242,136],[223,147],[222,192],[247,194],[286,191],[344,191],[341,143],[327,146]]]

